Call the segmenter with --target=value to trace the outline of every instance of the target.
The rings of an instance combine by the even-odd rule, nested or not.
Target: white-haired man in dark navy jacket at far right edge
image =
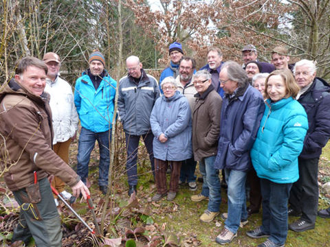
[[[302,232],[315,227],[318,213],[318,160],[330,137],[330,86],[316,78],[316,65],[311,60],[296,62],[294,77],[300,86],[297,99],[306,110],[309,129],[298,158],[299,180],[291,189],[288,214],[300,216],[289,224],[289,229]]]

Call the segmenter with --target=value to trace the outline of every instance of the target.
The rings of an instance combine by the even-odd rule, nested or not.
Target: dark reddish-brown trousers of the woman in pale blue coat
[[[170,163],[170,192],[177,192],[179,188],[179,176],[181,169],[181,161],[162,161],[155,158],[155,180],[157,186],[157,193],[167,193],[166,185],[166,170]]]

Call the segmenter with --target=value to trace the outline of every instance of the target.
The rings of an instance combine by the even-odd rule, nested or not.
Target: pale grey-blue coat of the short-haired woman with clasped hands
[[[150,117],[153,156],[162,161],[184,161],[192,157],[192,121],[188,99],[179,91],[172,97],[158,98]],[[158,139],[164,133],[168,140]]]

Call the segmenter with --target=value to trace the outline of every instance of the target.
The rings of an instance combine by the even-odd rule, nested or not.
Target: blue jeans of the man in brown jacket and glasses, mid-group
[[[208,211],[219,212],[221,204],[221,184],[219,169],[214,168],[214,161],[217,156],[202,158],[199,161],[199,171],[203,176],[201,194],[208,196]]]

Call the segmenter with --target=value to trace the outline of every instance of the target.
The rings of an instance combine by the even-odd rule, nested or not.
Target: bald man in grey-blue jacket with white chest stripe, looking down
[[[159,97],[159,89],[157,80],[146,74],[137,56],[129,56],[126,59],[126,69],[128,75],[120,79],[118,110],[126,137],[126,172],[129,180],[129,196],[131,196],[134,191],[136,193],[137,148],[141,136],[155,176],[150,115]]]

